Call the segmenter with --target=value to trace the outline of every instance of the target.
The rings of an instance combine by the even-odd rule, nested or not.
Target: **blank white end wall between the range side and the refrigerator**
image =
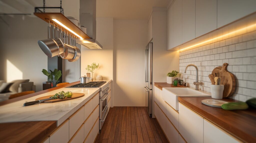
[[[147,20],[114,20],[114,106],[145,106]]]

